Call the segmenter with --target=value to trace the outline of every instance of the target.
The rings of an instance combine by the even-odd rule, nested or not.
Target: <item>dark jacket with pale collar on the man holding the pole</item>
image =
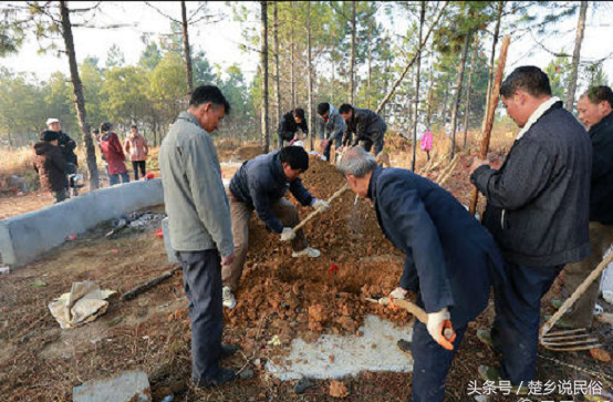
[[[590,138],[558,102],[513,143],[500,169],[472,173],[488,202],[484,225],[507,260],[546,267],[590,254],[591,171]]]

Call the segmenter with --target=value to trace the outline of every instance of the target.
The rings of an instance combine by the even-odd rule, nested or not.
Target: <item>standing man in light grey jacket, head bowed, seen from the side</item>
[[[221,343],[221,265],[235,258],[230,207],[210,133],[230,104],[217,86],[198,86],[159,148],[170,241],[183,265],[191,321],[191,378],[197,386],[236,378],[219,358],[237,348]]]

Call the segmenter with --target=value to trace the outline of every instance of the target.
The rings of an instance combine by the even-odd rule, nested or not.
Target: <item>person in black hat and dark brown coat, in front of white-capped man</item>
[[[55,195],[55,203],[66,199],[66,162],[58,146],[56,132],[46,130],[41,141],[34,144],[34,169],[39,174],[41,187]]]

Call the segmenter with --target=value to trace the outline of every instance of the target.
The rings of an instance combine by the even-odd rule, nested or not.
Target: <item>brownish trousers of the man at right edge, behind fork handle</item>
[[[604,254],[613,243],[613,226],[598,221],[590,223],[590,244],[592,254],[581,262],[569,264],[564,267],[562,293],[570,297],[574,290],[592,274],[603,260]],[[564,321],[573,328],[591,328],[594,316],[594,306],[599,298],[602,274],[590,285],[585,292],[564,313]]]

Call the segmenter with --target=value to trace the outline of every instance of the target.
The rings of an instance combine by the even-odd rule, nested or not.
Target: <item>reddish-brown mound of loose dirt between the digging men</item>
[[[302,178],[311,194],[323,199],[344,185],[335,167],[318,157],[310,158]],[[353,193],[344,193],[330,212],[305,226],[309,245],[322,251],[319,258],[293,258],[290,245],[267,233],[253,214],[238,305],[225,309],[227,320],[248,328],[247,343],[256,336],[277,334],[288,344],[298,334],[315,340],[322,331],[355,333],[366,312],[407,321],[406,311],[364,300],[386,296],[397,286],[404,256],[384,238],[374,210],[354,200]],[[299,207],[302,218],[310,210]],[[263,319],[268,324],[260,324]]]

